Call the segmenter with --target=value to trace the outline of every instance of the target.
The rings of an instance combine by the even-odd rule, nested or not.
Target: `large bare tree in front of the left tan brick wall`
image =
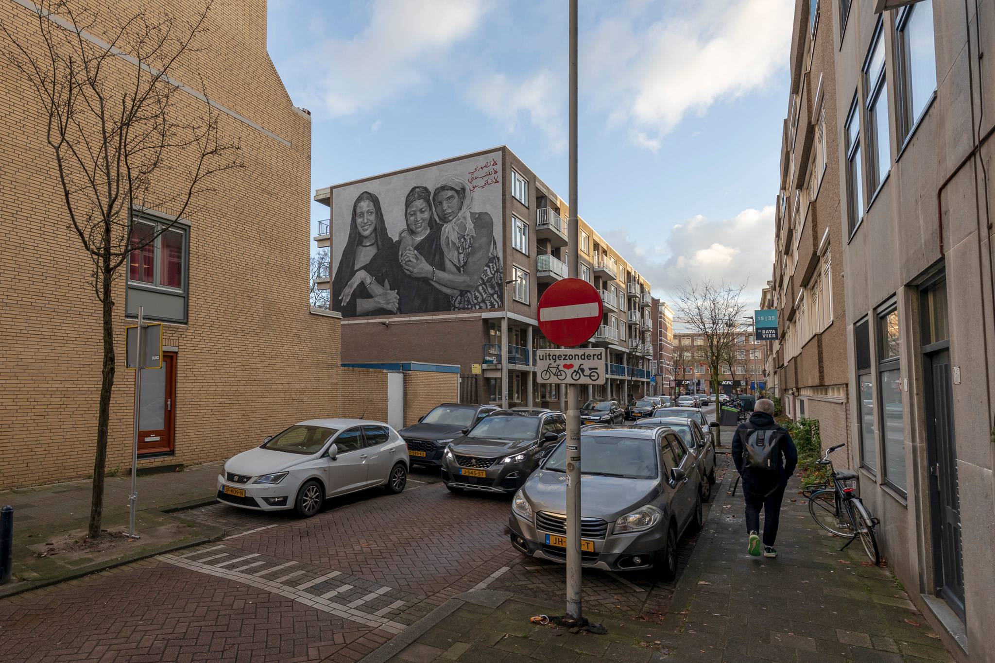
[[[134,234],[136,213],[196,216],[218,175],[242,167],[241,145],[220,136],[203,82],[199,93],[188,94],[192,90],[171,77],[202,50],[210,0],[189,21],[141,8],[101,16],[82,2],[35,1],[32,23],[40,43],[2,22],[0,30],[9,42],[8,60],[38,102],[66,220],[93,262],[90,286],[101,305],[103,332],[89,525],[89,536],[97,538],[116,369],[113,285],[131,252],[175,223]]]

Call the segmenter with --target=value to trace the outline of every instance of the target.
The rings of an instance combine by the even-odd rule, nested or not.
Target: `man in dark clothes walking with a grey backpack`
[[[798,450],[788,431],[774,423],[774,404],[760,399],[749,420],[732,435],[732,461],[742,477],[746,502],[747,552],[760,555],[760,509],[763,509],[763,556],[777,557],[774,541],[781,500],[788,478],[798,464]]]

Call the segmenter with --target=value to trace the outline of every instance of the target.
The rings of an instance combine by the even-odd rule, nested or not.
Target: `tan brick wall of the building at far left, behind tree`
[[[197,3],[168,5],[186,18]],[[30,11],[0,3],[0,20],[40,53]],[[175,456],[145,464],[226,457],[294,421],[337,414],[340,399],[339,321],[311,314],[307,303],[309,120],[267,55],[265,2],[219,0],[208,24],[205,52],[174,76],[192,86],[203,77],[213,98],[291,145],[220,116],[223,134],[241,140],[246,167],[216,179],[217,192],[189,215],[188,322],[164,333],[179,349]],[[133,73],[123,61],[108,65],[115,77]],[[90,258],[69,229],[37,100],[6,63],[0,90],[0,488],[9,488],[93,471],[101,346]],[[183,114],[200,110],[186,93],[175,101]],[[123,279],[114,297],[120,360],[130,324]],[[130,466],[133,378],[122,363],[108,467]]]

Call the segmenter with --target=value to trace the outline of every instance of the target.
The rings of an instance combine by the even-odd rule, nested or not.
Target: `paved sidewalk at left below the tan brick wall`
[[[212,541],[217,527],[182,518],[182,509],[214,502],[221,461],[177,472],[138,477],[138,541],[127,541],[129,473],[104,482],[102,529],[86,539],[93,482],[90,479],[0,491],[0,505],[14,507],[14,579],[0,597],[70,580],[150,555]],[[177,515],[170,512],[177,511]]]

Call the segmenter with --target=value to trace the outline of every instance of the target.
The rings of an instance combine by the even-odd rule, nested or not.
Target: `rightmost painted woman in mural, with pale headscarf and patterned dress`
[[[439,270],[414,251],[401,255],[406,273],[428,278],[451,296],[453,310],[499,308],[503,273],[494,237],[494,219],[487,212],[473,212],[473,192],[466,180],[450,175],[432,193],[436,217],[442,224],[439,242],[446,269]]]

